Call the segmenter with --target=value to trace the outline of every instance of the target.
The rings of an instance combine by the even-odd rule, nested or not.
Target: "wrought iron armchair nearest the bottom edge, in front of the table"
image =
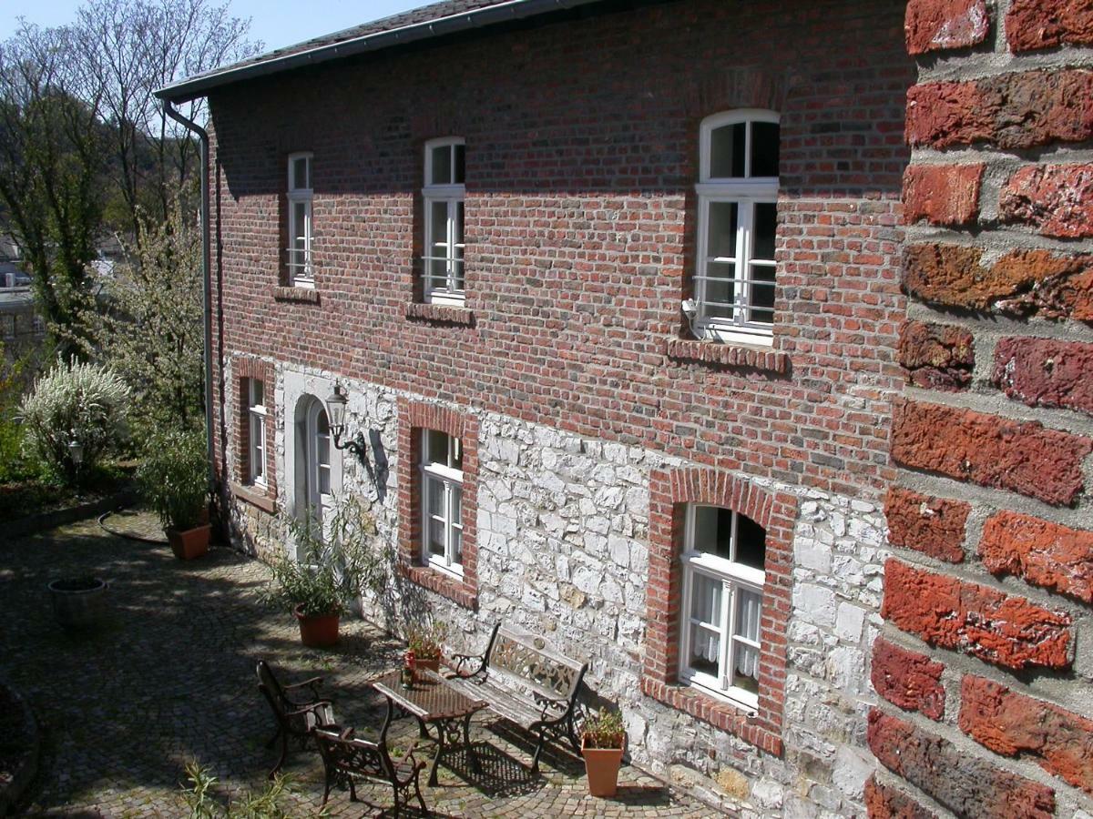
[[[413,748],[401,759],[391,759],[387,749],[387,723],[384,723],[378,743],[353,736],[353,728],[340,731],[337,726],[316,728],[315,741],[319,746],[326,773],[324,807],[330,798],[330,788],[336,784],[349,785],[350,798],[357,802],[354,782],[363,779],[391,786],[395,792],[395,816],[409,804],[411,787],[422,812],[428,814],[418,782],[425,762],[414,758]]]

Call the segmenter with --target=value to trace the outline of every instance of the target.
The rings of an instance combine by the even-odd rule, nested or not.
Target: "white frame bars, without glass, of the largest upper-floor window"
[[[752,241],[754,234],[754,214],[756,204],[778,203],[778,177],[751,176],[752,161],[752,123],[772,122],[780,124],[781,118],[776,111],[757,108],[743,108],[706,117],[700,129],[700,181],[695,185],[698,197],[698,236],[696,272],[694,276],[695,301],[698,305],[698,316],[695,319],[695,331],[700,337],[714,339],[721,342],[743,342],[771,346],[774,344],[774,324],[776,314],[772,312],[769,323],[753,321],[750,313],[753,310],[766,311],[766,308],[754,308],[750,304],[749,275],[752,259]],[[712,177],[710,147],[712,134],[725,126],[747,123],[747,142],[744,145],[743,177]],[[713,203],[726,202],[737,205],[737,258],[712,258],[708,256],[709,206]],[[767,260],[763,260],[764,262]],[[709,298],[706,295],[708,265],[710,262],[734,264],[732,318],[708,316]],[[762,262],[760,262],[762,263]],[[776,269],[774,260],[771,266]],[[727,281],[714,278],[714,281]],[[776,286],[775,286],[776,287]]]

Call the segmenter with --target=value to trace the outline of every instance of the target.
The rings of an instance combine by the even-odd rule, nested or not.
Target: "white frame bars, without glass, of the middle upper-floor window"
[[[424,283],[425,301],[437,305],[461,306],[467,301],[466,275],[467,263],[465,256],[466,226],[459,219],[459,207],[463,206],[466,218],[467,185],[465,182],[450,182],[447,185],[434,185],[433,179],[433,151],[438,147],[447,147],[451,155],[453,178],[455,178],[456,146],[462,145],[465,149],[463,173],[466,179],[466,141],[461,136],[444,136],[430,140],[425,143],[425,185],[421,189],[425,212],[425,242],[422,254],[422,282]],[[447,218],[445,219],[444,236],[436,236],[433,229],[433,204],[444,202],[447,207]],[[443,245],[444,256],[434,256],[434,248]],[[459,253],[456,254],[455,250]],[[434,276],[432,271],[433,262],[444,262],[444,275]],[[443,280],[438,284],[436,278]],[[458,281],[463,280],[463,287],[458,287]]]

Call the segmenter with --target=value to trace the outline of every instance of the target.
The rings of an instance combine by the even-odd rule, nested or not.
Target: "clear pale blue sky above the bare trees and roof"
[[[215,3],[216,0],[213,0]],[[250,17],[250,38],[266,49],[280,48],[367,23],[407,9],[427,5],[431,0],[232,0],[230,11]],[[0,0],[0,40],[15,33],[19,17],[40,26],[63,25],[75,17],[78,0]],[[301,13],[303,11],[303,13]]]

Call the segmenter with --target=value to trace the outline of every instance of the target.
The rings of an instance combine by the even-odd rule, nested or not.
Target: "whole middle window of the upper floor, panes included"
[[[425,300],[462,305],[463,199],[466,146],[448,136],[425,143],[425,254],[422,259]]]

